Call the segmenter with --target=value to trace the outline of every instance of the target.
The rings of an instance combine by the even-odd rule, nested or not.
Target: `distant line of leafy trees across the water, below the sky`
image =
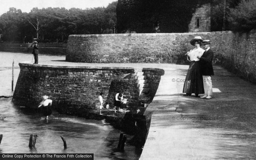
[[[0,16],[1,41],[65,42],[71,34],[107,34],[116,32],[117,1],[108,7],[33,8],[29,13],[10,10]]]

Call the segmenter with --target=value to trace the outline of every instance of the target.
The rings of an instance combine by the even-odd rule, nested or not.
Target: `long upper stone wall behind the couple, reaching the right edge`
[[[189,35],[210,39],[214,64],[256,83],[256,32],[69,35],[66,60],[90,63],[187,64]]]

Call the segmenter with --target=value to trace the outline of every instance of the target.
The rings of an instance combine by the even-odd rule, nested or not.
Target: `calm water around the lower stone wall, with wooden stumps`
[[[12,61],[15,60],[14,86],[19,75],[18,62],[31,61],[33,55],[0,52],[0,96],[12,96]],[[65,60],[65,56],[39,55],[40,60]],[[3,76],[4,75],[4,76]],[[53,112],[48,121],[36,113],[15,106],[11,98],[0,98],[0,153],[94,153],[95,159],[138,159],[134,146],[126,143],[125,152],[115,152],[120,131],[104,120],[88,120]],[[29,148],[30,134],[37,134],[35,148]],[[64,150],[63,136],[67,142]],[[128,136],[128,140],[132,137]],[[106,140],[108,139],[108,140]]]

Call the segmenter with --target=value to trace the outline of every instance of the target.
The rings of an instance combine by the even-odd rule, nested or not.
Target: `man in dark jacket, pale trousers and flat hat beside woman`
[[[201,57],[199,58],[200,67],[202,70],[203,75],[203,83],[204,83],[204,96],[200,98],[211,99],[212,98],[212,80],[211,76],[214,75],[213,68],[212,68],[212,58],[213,58],[213,51],[210,49],[210,40],[204,40],[202,45],[206,50]]]

